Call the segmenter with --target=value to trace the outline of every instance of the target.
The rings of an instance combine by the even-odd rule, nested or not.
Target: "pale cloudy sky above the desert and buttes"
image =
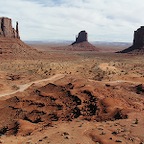
[[[19,22],[22,40],[132,42],[144,25],[143,0],[0,0],[0,16]]]

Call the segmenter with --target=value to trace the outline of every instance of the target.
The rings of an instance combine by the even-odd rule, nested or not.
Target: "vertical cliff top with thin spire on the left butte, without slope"
[[[12,27],[12,22],[10,18],[0,17],[0,37],[20,39],[18,22],[16,22],[16,30],[15,30]]]

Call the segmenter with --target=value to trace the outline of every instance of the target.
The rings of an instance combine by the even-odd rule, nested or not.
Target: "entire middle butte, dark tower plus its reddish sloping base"
[[[88,42],[88,34],[85,30],[79,32],[76,37],[75,42],[71,44],[73,47],[77,47],[75,50],[88,50],[88,51],[98,51],[98,49]],[[84,49],[79,49],[84,48]]]

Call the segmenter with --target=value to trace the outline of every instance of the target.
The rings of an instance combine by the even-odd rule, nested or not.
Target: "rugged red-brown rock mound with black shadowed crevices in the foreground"
[[[119,107],[119,103],[123,105],[122,100],[99,99],[98,93],[94,95],[94,91],[78,85],[77,82],[48,83],[24,97],[20,94],[0,103],[0,135],[30,135],[36,127],[75,119],[101,122],[127,118],[125,106]],[[34,129],[25,131],[24,126],[34,126]]]

